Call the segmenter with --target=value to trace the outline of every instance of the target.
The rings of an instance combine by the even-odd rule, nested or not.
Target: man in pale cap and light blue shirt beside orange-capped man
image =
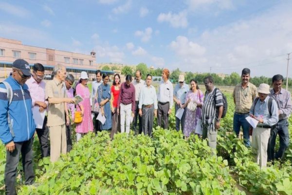
[[[189,86],[188,84],[184,83],[184,76],[180,75],[179,83],[175,86],[174,91],[173,91],[173,100],[175,102],[175,113],[185,103],[185,97],[188,91],[189,91]],[[185,111],[183,112],[183,116],[181,119],[178,117],[175,117],[175,129],[177,131],[180,131],[180,126],[182,127],[181,129],[183,131],[184,116],[185,116]]]

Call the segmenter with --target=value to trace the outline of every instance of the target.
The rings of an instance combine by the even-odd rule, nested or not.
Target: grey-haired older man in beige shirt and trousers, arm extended
[[[45,90],[45,99],[49,101],[47,126],[50,130],[51,162],[57,161],[61,152],[62,154],[67,152],[65,121],[69,123],[70,120],[65,102],[74,103],[73,98],[67,98],[63,83],[66,78],[66,68],[57,64],[54,75],[54,79],[47,82]],[[67,120],[65,120],[65,113]]]

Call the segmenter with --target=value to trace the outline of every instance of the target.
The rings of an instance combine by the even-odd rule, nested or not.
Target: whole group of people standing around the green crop
[[[111,130],[113,139],[118,132],[129,133],[131,123],[135,132],[151,137],[154,117],[157,117],[158,126],[168,129],[169,114],[183,111],[182,115],[176,117],[176,130],[181,130],[186,138],[191,134],[208,138],[209,146],[216,153],[217,133],[224,109],[227,109],[223,94],[214,86],[211,76],[204,78],[204,93],[199,89],[197,80],[191,79],[188,85],[184,82],[183,75],[179,76],[179,83],[173,87],[169,74],[168,69],[163,70],[162,81],[156,91],[152,85],[152,76],[147,74],[144,81],[139,70],[133,81],[132,76],[127,75],[123,83],[119,74],[115,74],[111,86],[108,83],[109,75],[97,70],[90,93],[86,72],[81,72],[73,89],[75,79],[73,75],[67,75],[65,66],[57,64],[52,74],[53,79],[44,82],[42,64],[34,64],[31,71],[27,61],[15,60],[11,76],[0,82],[0,139],[7,150],[6,194],[16,194],[20,153],[24,183],[30,185],[35,180],[32,150],[35,131],[42,157],[50,156],[51,161],[55,162],[61,153],[65,154],[72,149],[73,123],[76,124],[76,141],[88,132],[98,134],[103,130]],[[233,129],[239,136],[242,128],[245,145],[255,149],[257,163],[265,167],[267,161],[282,159],[289,146],[291,94],[282,89],[284,78],[281,75],[272,78],[271,90],[265,83],[256,88],[249,79],[250,70],[244,68],[241,83],[233,92]],[[82,101],[76,102],[75,95],[81,96]],[[78,123],[74,120],[77,112],[82,117]],[[105,118],[105,121],[100,117]],[[247,117],[256,119],[258,124],[255,128],[251,127]],[[277,135],[280,146],[274,152]]]

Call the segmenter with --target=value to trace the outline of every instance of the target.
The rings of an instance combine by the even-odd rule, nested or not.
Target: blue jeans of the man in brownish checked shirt
[[[250,135],[249,135],[249,127],[250,124],[245,119],[249,116],[249,113],[247,114],[239,114],[237,112],[234,113],[233,116],[233,130],[235,131],[237,137],[239,136],[240,127],[242,127],[243,130],[243,140],[246,147],[250,147]]]

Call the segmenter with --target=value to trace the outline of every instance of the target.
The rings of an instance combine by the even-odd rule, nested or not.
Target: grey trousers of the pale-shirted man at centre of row
[[[146,108],[144,105],[142,106],[142,132],[144,135],[148,135],[150,137],[152,136],[153,114],[153,105],[151,108]]]

